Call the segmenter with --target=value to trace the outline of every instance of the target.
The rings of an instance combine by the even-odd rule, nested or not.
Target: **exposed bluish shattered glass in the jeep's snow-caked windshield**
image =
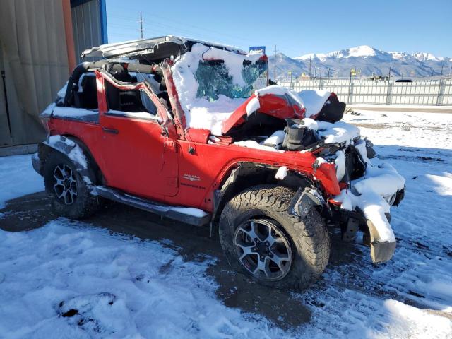
[[[254,90],[266,87],[268,73],[266,59],[259,59],[256,62],[244,60],[242,64],[237,64],[237,68],[232,71],[241,76],[239,81],[232,76],[225,61],[199,61],[194,74],[199,85],[196,97],[203,97],[209,101],[217,100],[218,95],[231,98],[249,97]]]

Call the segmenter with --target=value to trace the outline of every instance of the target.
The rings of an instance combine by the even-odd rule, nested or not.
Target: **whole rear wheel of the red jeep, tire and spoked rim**
[[[99,205],[73,162],[57,151],[45,160],[44,186],[59,215],[81,219],[93,214]]]

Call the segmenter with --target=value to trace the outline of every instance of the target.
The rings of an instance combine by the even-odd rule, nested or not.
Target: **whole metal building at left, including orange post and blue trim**
[[[69,27],[72,18],[74,43],[66,34],[64,13]],[[105,0],[1,0],[0,71],[12,136],[0,77],[0,147],[42,141],[38,115],[69,78],[68,53],[74,47],[79,61],[84,49],[105,42]]]

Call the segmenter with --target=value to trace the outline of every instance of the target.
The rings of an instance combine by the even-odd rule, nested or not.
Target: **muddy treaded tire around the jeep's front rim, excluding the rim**
[[[302,220],[287,212],[295,192],[281,186],[254,186],[234,196],[222,210],[219,235],[222,249],[232,267],[249,275],[258,283],[270,287],[304,290],[319,280],[330,256],[328,230],[315,208]],[[246,220],[274,220],[291,245],[292,262],[288,273],[280,280],[260,279],[239,261],[234,249],[234,234]]]

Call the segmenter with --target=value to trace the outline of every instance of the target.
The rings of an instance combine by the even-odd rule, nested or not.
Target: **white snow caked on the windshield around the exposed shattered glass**
[[[245,81],[237,67],[243,61],[256,62],[263,54],[242,55],[222,49],[210,48],[203,44],[194,44],[191,52],[186,52],[172,66],[172,76],[179,94],[179,101],[185,112],[186,126],[195,129],[208,129],[214,135],[221,135],[221,124],[242,105],[246,98],[231,98],[218,95],[217,100],[209,101],[196,97],[199,84],[195,74],[199,61],[221,59],[232,77],[234,84],[242,86]]]

